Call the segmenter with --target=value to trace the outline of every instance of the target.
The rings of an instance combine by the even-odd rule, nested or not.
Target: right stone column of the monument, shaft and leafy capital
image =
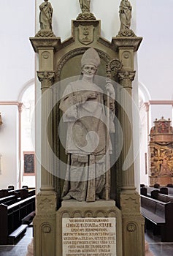
[[[134,80],[134,71],[118,72],[120,89],[120,118],[123,130],[123,149],[122,149],[122,190],[124,192],[134,192],[134,152],[133,152],[133,121],[132,121],[132,100],[131,83]]]

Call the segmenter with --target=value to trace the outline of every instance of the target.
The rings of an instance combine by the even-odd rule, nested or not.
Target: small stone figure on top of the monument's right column
[[[128,0],[120,2],[120,31],[117,37],[136,37],[134,31],[130,29],[131,26],[131,3]]]

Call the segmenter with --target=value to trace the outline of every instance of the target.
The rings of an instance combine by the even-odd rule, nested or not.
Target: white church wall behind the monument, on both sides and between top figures
[[[71,36],[71,20],[77,18],[80,5],[77,0],[50,0],[50,2],[53,6],[53,31],[56,37],[61,37],[64,41]],[[173,2],[172,0],[167,0],[166,4],[161,0],[131,0],[130,2],[133,7],[131,29],[137,36],[143,37],[135,60],[135,69],[138,69],[138,72],[134,81],[134,98],[138,97],[137,87],[140,82],[149,91],[150,100],[171,100],[173,36],[170,33],[170,24],[172,23]],[[0,102],[18,101],[23,86],[35,77],[35,54],[28,38],[34,37],[36,31],[39,30],[39,4],[41,3],[42,0],[19,0],[17,3],[7,0],[1,8],[0,19],[4,26],[1,26],[3,65],[1,65]],[[94,12],[96,18],[101,20],[101,35],[107,40],[111,40],[111,37],[115,37],[119,31],[119,4],[120,1],[115,0],[91,1],[91,12]],[[38,67],[37,64],[36,67]],[[37,78],[36,86],[38,90],[36,93],[39,94],[40,83]],[[0,154],[2,155],[0,187],[7,187],[9,181],[12,184],[18,183],[18,107],[0,105],[0,112],[4,123],[0,127]],[[149,116],[151,127],[155,118],[161,118],[161,116],[172,118],[172,106],[152,105]],[[134,123],[137,123],[135,119]],[[139,127],[135,127],[137,132],[139,132]],[[135,135],[137,137],[137,132],[134,132],[134,138]],[[39,140],[39,134],[36,136]],[[9,140],[10,147],[7,144]],[[139,145],[138,140],[136,143],[140,150],[141,144]],[[147,132],[145,131],[145,145],[146,143]],[[136,161],[136,184],[138,185],[139,156]],[[146,182],[145,167],[142,167],[141,172],[140,183],[143,183]],[[8,178],[4,176],[4,173]]]

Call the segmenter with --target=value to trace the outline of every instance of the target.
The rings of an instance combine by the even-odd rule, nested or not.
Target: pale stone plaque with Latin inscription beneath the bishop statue
[[[116,256],[115,218],[63,218],[63,256]]]

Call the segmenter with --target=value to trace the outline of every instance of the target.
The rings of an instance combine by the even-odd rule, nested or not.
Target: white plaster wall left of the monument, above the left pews
[[[18,101],[26,83],[34,78],[34,51],[29,37],[35,31],[35,1],[1,3],[0,188],[18,185],[18,107],[1,102]]]

